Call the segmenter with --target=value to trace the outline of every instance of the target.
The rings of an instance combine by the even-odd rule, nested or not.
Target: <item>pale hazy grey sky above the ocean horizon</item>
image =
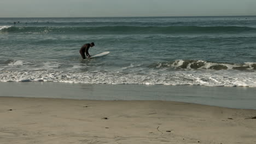
[[[0,17],[256,15],[256,0],[0,0]]]

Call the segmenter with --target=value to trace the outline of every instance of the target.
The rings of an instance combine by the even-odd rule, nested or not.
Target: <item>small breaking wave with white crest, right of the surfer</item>
[[[202,60],[177,60],[174,62],[158,62],[149,65],[149,68],[172,68],[177,70],[256,70],[256,62],[243,64],[207,62]]]

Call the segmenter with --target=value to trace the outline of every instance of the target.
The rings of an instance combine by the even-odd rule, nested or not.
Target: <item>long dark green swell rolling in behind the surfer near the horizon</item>
[[[103,26],[103,27],[16,27],[16,26],[0,26],[0,33],[83,33],[83,34],[196,34],[196,33],[247,33],[256,32],[253,27],[237,27],[237,26]]]

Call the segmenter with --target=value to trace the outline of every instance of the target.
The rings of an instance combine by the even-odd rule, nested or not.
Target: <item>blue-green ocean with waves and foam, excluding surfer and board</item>
[[[256,87],[256,16],[0,18],[0,50],[0,82]]]

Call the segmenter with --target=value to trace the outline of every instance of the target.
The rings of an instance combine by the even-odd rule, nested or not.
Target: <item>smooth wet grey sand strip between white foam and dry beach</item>
[[[0,97],[161,100],[256,110],[255,93],[256,88],[247,87],[0,82]]]

